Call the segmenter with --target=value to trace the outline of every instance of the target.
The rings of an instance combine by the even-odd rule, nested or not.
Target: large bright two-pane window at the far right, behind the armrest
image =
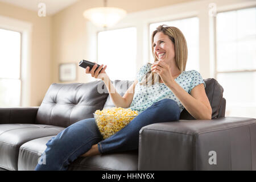
[[[256,8],[216,16],[217,80],[226,116],[256,118]]]

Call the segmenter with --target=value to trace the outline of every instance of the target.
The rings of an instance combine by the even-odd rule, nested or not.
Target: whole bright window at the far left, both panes
[[[0,29],[0,107],[20,106],[20,38]]]

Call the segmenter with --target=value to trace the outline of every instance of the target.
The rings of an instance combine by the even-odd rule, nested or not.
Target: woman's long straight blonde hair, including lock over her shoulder
[[[185,67],[187,64],[187,58],[188,58],[188,48],[187,48],[187,42],[185,40],[184,35],[182,34],[182,32],[179,30],[179,28],[176,27],[168,27],[166,25],[160,25],[159,27],[156,28],[156,30],[152,33],[151,36],[151,42],[153,44],[154,42],[154,36],[156,35],[156,33],[158,32],[162,32],[165,35],[168,35],[168,37],[170,38],[170,40],[172,41],[172,43],[174,43],[174,51],[175,51],[175,61],[176,61],[176,65],[177,68],[180,70],[180,72],[182,73],[183,71],[185,71]],[[151,44],[151,45],[152,45]],[[154,47],[151,47],[152,49],[152,54],[155,58],[154,63],[156,61],[158,61],[158,59],[156,58],[155,54],[154,54]],[[147,64],[151,64],[151,63],[147,63]],[[158,76],[158,77],[157,77]],[[155,80],[158,79],[160,80],[160,76],[154,72],[147,72],[146,75],[142,78],[142,81],[140,83],[140,85],[148,85],[148,81],[152,80],[152,82],[150,83],[150,85],[155,84]]]

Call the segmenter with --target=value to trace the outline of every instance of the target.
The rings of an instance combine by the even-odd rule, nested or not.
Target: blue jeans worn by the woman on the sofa
[[[102,140],[94,118],[88,118],[67,127],[46,144],[42,161],[35,170],[67,170],[68,165],[84,154],[93,144],[98,144],[101,154],[138,149],[139,130],[143,126],[158,122],[177,121],[180,109],[171,99],[155,102],[128,125],[111,137]]]

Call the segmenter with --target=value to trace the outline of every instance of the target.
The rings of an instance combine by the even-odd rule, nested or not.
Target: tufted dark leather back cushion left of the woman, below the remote
[[[103,81],[86,84],[52,84],[36,115],[36,123],[68,127],[86,118],[93,118],[102,109],[108,92],[102,92]]]

